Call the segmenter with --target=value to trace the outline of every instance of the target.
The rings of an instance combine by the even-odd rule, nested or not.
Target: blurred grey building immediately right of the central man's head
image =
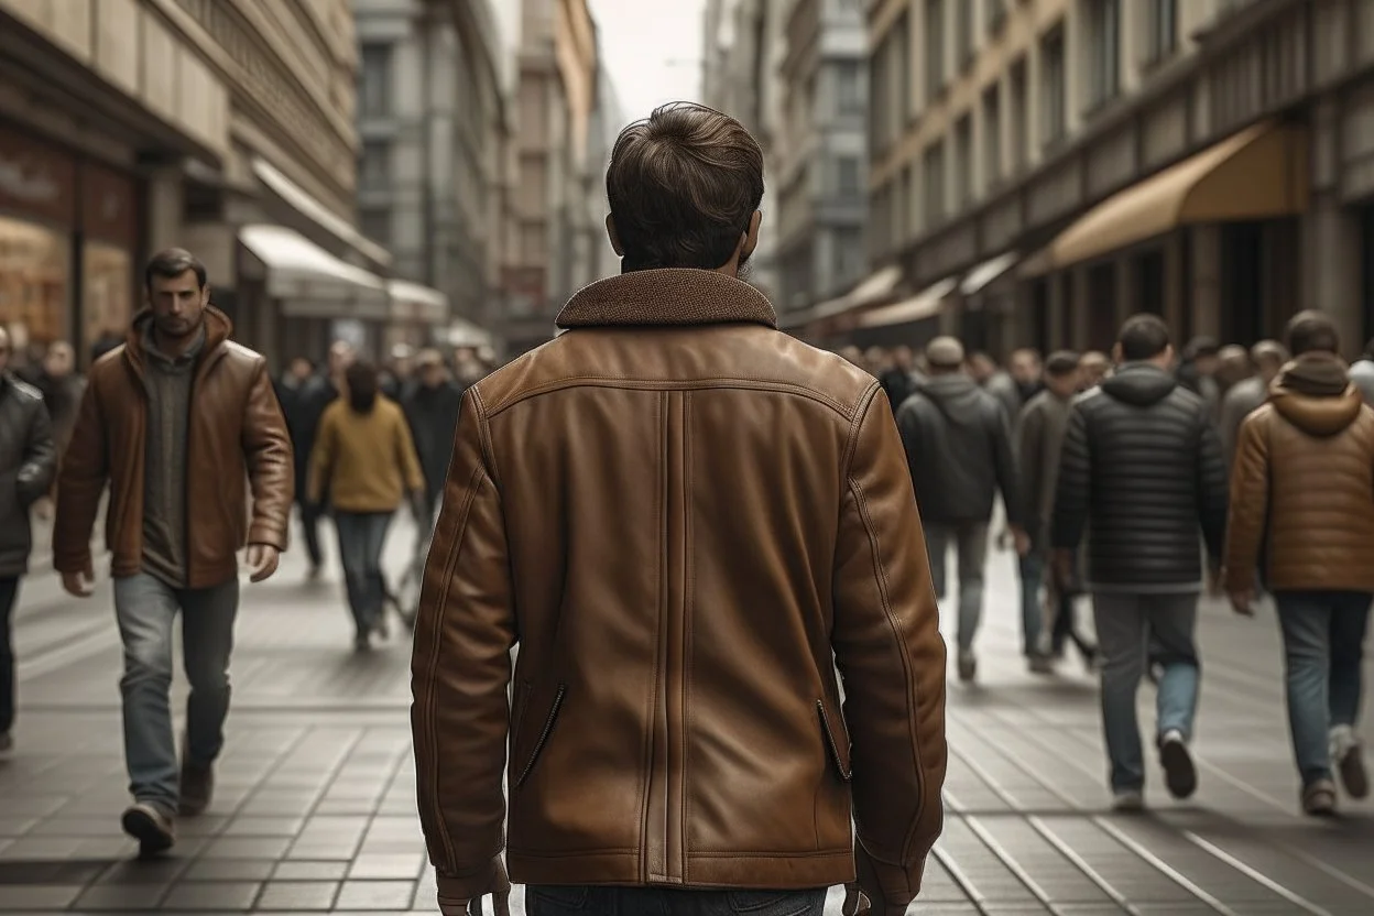
[[[861,0],[793,0],[774,144],[778,295],[789,317],[867,271],[867,33]]]

